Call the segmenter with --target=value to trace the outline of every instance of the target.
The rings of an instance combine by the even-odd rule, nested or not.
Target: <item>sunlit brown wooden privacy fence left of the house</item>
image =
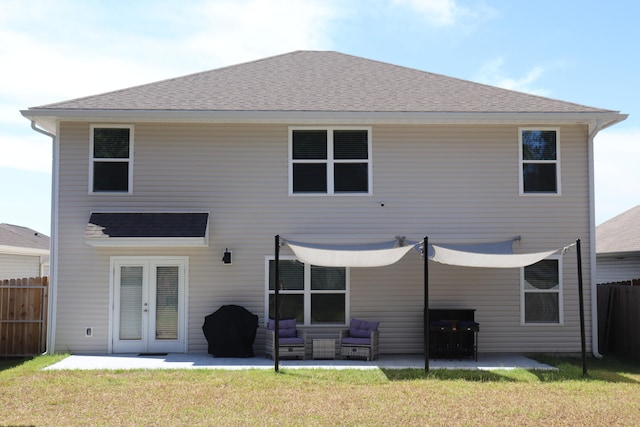
[[[0,356],[45,351],[48,277],[0,281]]]

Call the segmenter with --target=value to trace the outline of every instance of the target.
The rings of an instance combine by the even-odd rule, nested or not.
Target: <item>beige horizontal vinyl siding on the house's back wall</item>
[[[585,127],[560,127],[561,196],[518,194],[518,126],[373,125],[371,196],[289,196],[286,125],[136,123],[134,137],[133,194],[89,195],[89,123],[61,125],[56,351],[106,351],[110,256],[188,256],[188,350],[206,352],[204,316],[238,304],[260,317],[260,354],[265,256],[273,255],[276,234],[319,243],[520,235],[516,252],[581,238],[583,254],[590,251]],[[90,212],[114,210],[208,211],[209,247],[87,246]],[[221,262],[225,248],[232,265]],[[351,316],[381,321],[382,353],[422,351],[422,266],[412,251],[393,266],[351,269]],[[575,251],[564,258],[562,325],[521,325],[519,270],[429,268],[431,307],[475,308],[481,352],[580,351]],[[586,255],[583,273],[590,336]],[[84,337],[86,326],[94,327],[92,338]],[[308,330],[337,337],[337,328]]]

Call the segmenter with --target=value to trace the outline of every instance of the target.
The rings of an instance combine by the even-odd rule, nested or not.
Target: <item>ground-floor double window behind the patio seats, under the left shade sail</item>
[[[275,318],[275,259],[265,262],[265,318]],[[346,325],[349,319],[349,269],[304,264],[280,257],[278,303],[281,319],[304,325]]]

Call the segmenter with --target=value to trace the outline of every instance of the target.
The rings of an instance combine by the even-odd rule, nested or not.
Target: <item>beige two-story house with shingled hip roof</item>
[[[519,236],[516,254],[579,238],[597,351],[593,143],[626,118],[617,111],[297,51],[22,114],[53,138],[49,351],[206,352],[203,319],[225,304],[264,327],[276,235]],[[365,268],[281,249],[281,309],[308,334],[371,319],[382,354],[422,352],[417,252]],[[520,268],[430,262],[429,304],[475,310],[481,353],[579,352],[576,263],[559,253]]]

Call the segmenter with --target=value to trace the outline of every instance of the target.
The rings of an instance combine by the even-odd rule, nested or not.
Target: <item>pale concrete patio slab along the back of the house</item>
[[[424,369],[422,355],[381,355],[379,360],[281,360],[281,369]],[[226,358],[208,354],[169,353],[167,355],[102,354],[71,355],[45,370],[61,369],[273,369],[265,357]],[[521,355],[479,355],[474,360],[430,360],[430,369],[511,370],[557,368]]]

